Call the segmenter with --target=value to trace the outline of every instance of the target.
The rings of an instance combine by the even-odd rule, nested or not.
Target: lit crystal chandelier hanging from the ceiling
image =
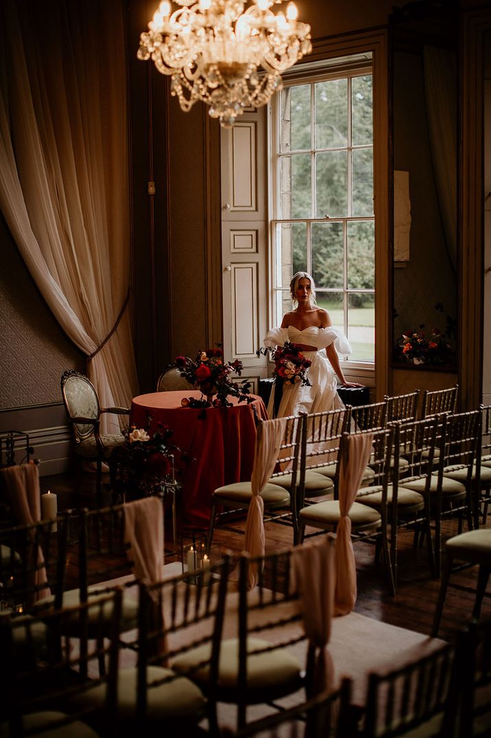
[[[187,112],[202,100],[210,116],[230,128],[244,107],[265,105],[281,89],[281,73],[312,50],[310,27],[297,21],[290,2],[286,14],[272,13],[282,0],[162,0],[140,36],[138,58],[150,57],[162,75],[171,75],[171,94]]]

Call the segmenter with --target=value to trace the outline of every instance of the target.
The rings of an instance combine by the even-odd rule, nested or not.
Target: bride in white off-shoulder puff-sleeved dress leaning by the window
[[[284,384],[278,413],[275,413],[275,386],[268,404],[269,418],[284,418],[300,413],[319,413],[343,407],[337,394],[337,379],[343,387],[361,387],[346,382],[337,352],[351,354],[348,339],[332,325],[329,313],[315,303],[315,284],[307,272],[297,272],[290,282],[294,310],[284,315],[281,328],[272,328],[264,339],[268,348],[283,346],[286,341],[301,349],[311,366],[307,370],[309,385]],[[329,360],[328,360],[329,359]]]

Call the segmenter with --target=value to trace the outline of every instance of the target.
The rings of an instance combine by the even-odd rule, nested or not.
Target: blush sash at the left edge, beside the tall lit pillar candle
[[[39,488],[39,469],[34,463],[21,464],[21,466],[5,466],[0,469],[4,481],[4,489],[12,507],[12,511],[18,523],[21,525],[32,525],[41,520],[41,489]],[[40,587],[47,584],[47,573],[43,566],[44,556],[41,546],[38,546],[37,566],[34,572],[34,584],[36,586],[34,599],[49,597],[49,587]]]

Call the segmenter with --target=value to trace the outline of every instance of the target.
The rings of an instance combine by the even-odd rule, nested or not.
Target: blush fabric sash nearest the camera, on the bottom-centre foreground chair
[[[303,627],[309,639],[307,697],[322,694],[334,684],[334,663],[327,648],[334,616],[334,540],[331,536],[309,541],[292,551],[292,576],[298,590]]]

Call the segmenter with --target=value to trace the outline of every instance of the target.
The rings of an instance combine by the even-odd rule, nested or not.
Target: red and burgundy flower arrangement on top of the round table
[[[187,356],[177,356],[174,367],[181,370],[181,376],[193,384],[206,397],[205,400],[193,398],[182,399],[184,407],[227,407],[232,403],[228,396],[237,397],[239,402],[252,402],[250,396],[250,382],[243,379],[241,382],[233,382],[232,374],[241,376],[242,362],[224,362],[223,351],[220,346],[208,348],[207,351],[199,351],[196,359],[188,359]]]

